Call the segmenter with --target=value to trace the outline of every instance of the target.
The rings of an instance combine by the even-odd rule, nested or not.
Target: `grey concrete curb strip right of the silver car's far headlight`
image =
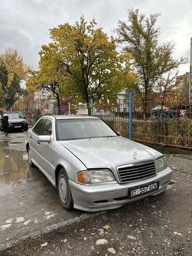
[[[192,160],[175,156],[166,156],[166,160],[170,168],[192,174]]]

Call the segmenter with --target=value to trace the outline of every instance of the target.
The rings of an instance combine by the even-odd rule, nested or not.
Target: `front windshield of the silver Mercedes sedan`
[[[58,140],[79,140],[117,136],[101,119],[60,119],[57,120],[56,129]]]

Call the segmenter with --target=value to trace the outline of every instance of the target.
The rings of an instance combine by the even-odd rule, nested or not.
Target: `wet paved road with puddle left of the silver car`
[[[0,132],[0,243],[80,215],[66,211],[38,168],[28,165],[25,132]]]

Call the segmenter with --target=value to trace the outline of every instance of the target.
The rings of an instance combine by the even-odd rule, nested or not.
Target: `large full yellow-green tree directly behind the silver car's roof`
[[[48,46],[57,47],[59,70],[66,74],[65,96],[87,106],[90,99],[116,102],[131,73],[130,54],[119,55],[115,39],[96,25],[94,19],[87,23],[83,16],[74,25],[59,25],[50,30],[53,43]]]

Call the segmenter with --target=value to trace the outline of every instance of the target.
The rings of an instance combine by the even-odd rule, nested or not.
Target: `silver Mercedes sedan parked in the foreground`
[[[98,117],[43,116],[28,130],[26,149],[67,210],[119,208],[165,191],[172,176],[161,153]]]

